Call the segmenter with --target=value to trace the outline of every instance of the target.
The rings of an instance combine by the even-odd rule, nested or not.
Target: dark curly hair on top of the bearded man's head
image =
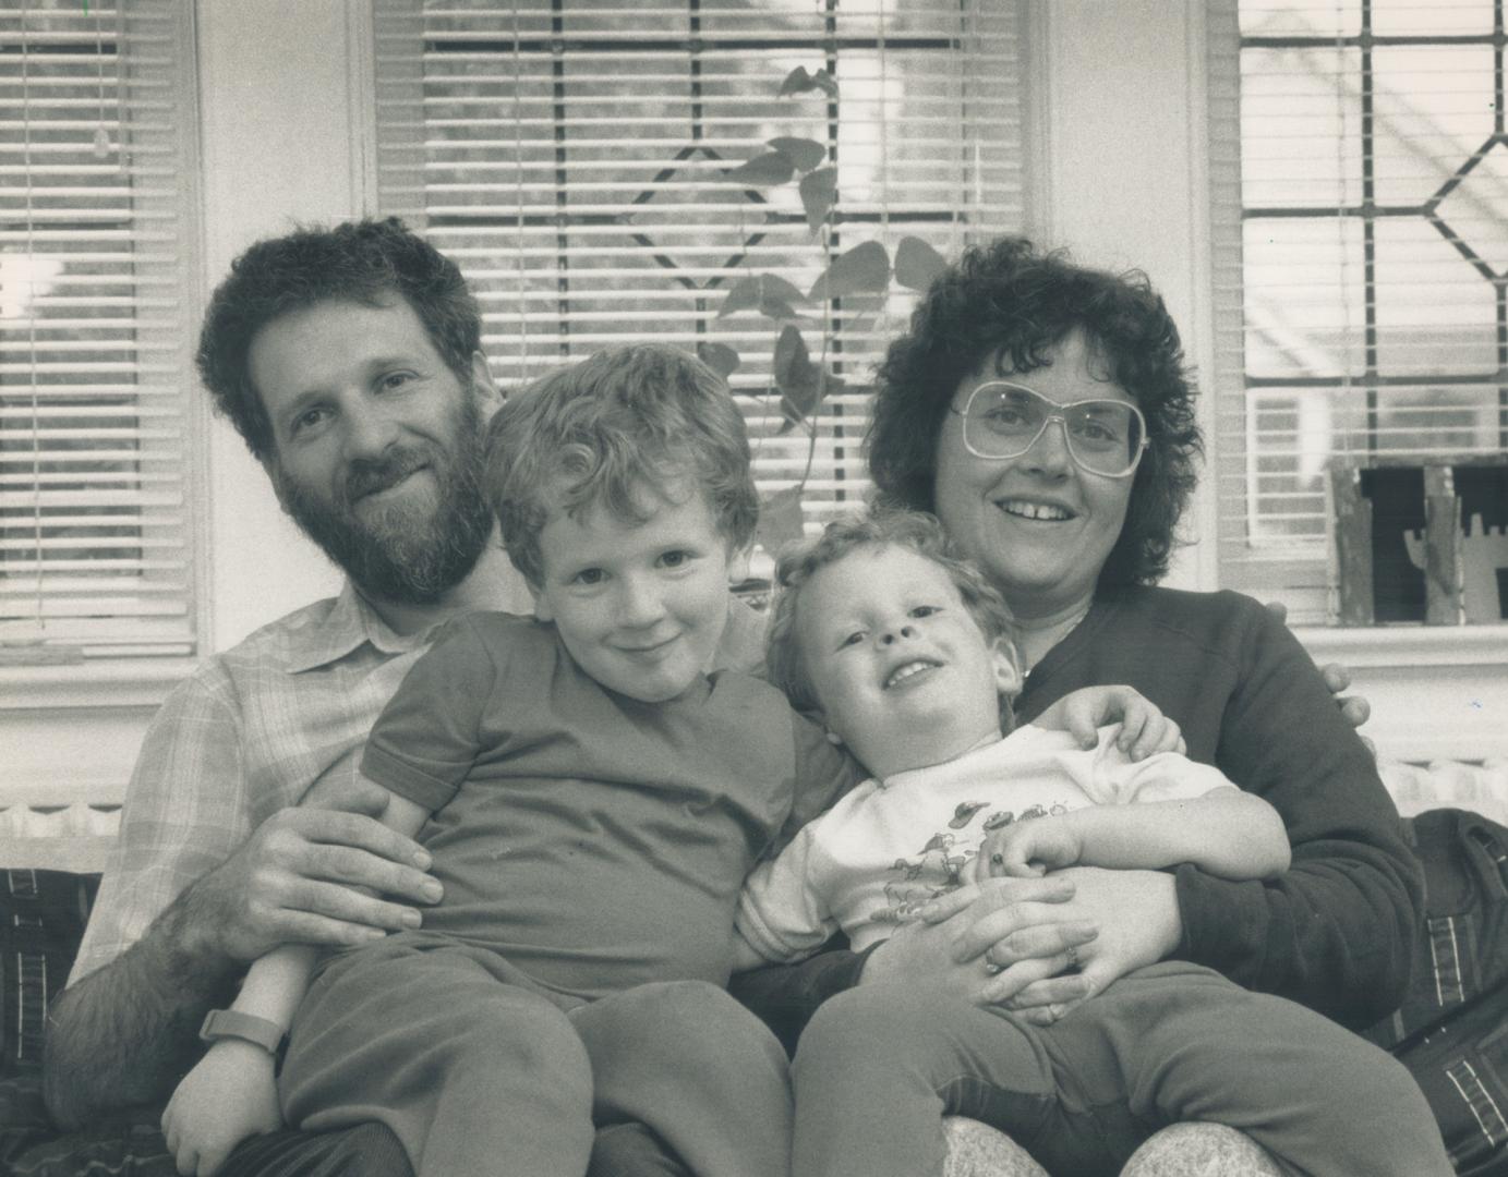
[[[481,350],[481,312],[460,268],[398,217],[333,229],[300,228],[250,246],[210,298],[199,332],[199,378],[252,457],[274,452],[267,407],[252,386],[247,353],[268,323],[315,303],[388,306],[403,298],[445,366],[470,384]]]

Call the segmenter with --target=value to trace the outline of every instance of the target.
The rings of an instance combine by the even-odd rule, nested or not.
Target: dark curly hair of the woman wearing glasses
[[[1202,445],[1178,327],[1140,271],[1090,270],[1021,237],[964,250],[879,366],[870,475],[882,502],[935,511],[936,439],[958,386],[986,363],[1000,375],[1044,368],[1075,329],[1148,425],[1125,526],[1099,583],[1151,585],[1167,573]]]

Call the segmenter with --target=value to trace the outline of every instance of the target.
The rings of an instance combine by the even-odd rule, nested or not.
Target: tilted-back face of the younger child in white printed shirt
[[[872,773],[938,764],[1000,735],[1013,671],[942,567],[866,546],[799,591],[796,640],[822,719]]]

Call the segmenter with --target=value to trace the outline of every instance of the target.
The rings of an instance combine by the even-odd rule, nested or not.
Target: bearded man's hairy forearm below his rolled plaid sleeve
[[[226,1004],[240,965],[204,934],[185,892],[118,960],[48,1013],[42,1091],[62,1127],[164,1100],[199,1055],[199,1026]]]

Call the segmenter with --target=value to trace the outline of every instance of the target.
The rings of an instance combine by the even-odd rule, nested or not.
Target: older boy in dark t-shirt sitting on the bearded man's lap
[[[778,690],[707,675],[757,515],[743,420],[685,353],[606,353],[499,410],[486,484],[537,619],[454,622],[362,758],[445,903],[329,960],[297,1019],[302,949],[232,1013],[291,1022],[290,1123],[380,1120],[421,1177],[579,1177],[593,1120],[780,1174],[784,1052],[722,990],[733,906],[798,800],[855,776]],[[169,1106],[179,1166],[213,1171],[271,1085],[268,1052],[217,1043]]]

